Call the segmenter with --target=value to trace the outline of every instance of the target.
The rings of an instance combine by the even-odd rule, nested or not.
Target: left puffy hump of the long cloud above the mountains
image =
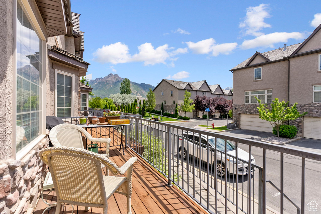
[[[130,60],[128,46],[124,43],[117,42],[110,45],[103,45],[94,53],[97,62],[112,64],[125,63]]]

